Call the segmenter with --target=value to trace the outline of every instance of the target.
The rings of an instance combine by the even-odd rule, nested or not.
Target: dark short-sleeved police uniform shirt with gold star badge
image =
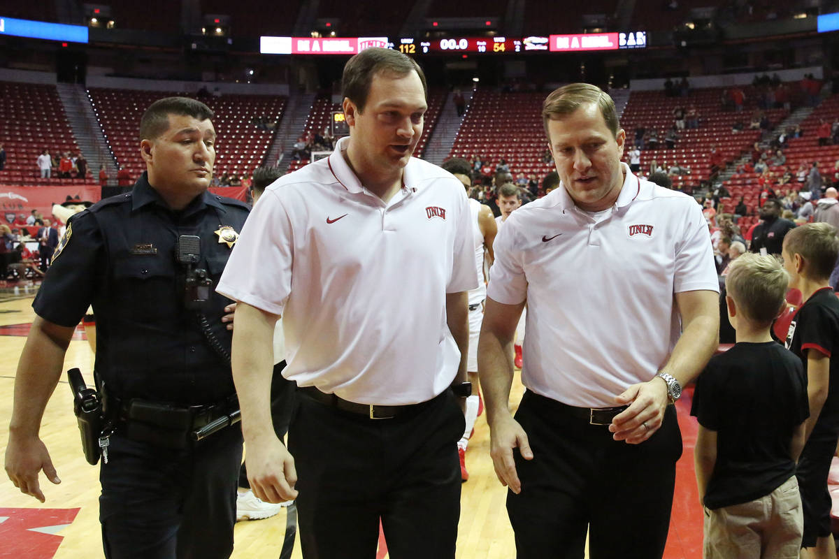
[[[103,199],[69,220],[35,313],[73,327],[92,304],[96,371],[115,396],[180,405],[230,396],[230,365],[185,308],[185,267],[175,261],[175,245],[181,235],[201,237],[195,267],[215,287],[247,216],[247,204],[209,191],[180,212],[169,210],[143,173],[131,194]],[[212,287],[204,316],[229,351],[232,334],[221,317],[231,302]]]

